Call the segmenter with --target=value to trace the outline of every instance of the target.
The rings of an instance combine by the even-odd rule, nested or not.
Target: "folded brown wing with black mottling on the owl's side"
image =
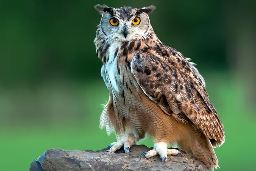
[[[188,74],[150,53],[134,55],[131,72],[145,94],[167,114],[194,124],[210,139],[220,143],[225,140],[223,124],[217,112],[206,104],[210,103],[208,95],[202,97]]]

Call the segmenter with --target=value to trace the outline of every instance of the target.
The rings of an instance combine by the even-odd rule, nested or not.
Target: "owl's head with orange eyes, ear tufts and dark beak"
[[[145,37],[151,27],[148,14],[155,8],[153,5],[144,8],[95,5],[95,9],[102,15],[99,27],[103,36],[119,41]]]

